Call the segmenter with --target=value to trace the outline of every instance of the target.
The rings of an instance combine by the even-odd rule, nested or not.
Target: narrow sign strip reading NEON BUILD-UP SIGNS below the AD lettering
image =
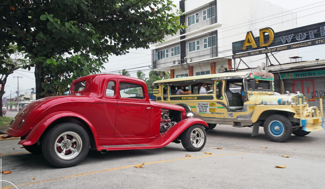
[[[266,54],[266,53],[270,53],[270,52],[290,50],[290,49],[295,49],[295,48],[300,48],[300,47],[309,47],[309,46],[314,46],[314,45],[321,45],[321,44],[325,44],[325,38],[314,39],[314,40],[310,40],[310,41],[305,41],[305,42],[301,42],[301,43],[294,43],[294,44],[291,44],[291,45],[285,45],[285,46],[274,47],[274,48],[269,48],[269,49],[264,48],[262,50],[256,50],[256,51],[251,51],[251,52],[234,54],[234,55],[232,55],[232,59],[243,58],[243,57],[248,57],[248,56],[254,56],[254,55],[259,55],[259,54]]]

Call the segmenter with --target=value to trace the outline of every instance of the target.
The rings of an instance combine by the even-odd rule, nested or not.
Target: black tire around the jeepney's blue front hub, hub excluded
[[[279,137],[273,136],[270,133],[269,125],[272,121],[278,121],[282,124],[283,126],[283,134]],[[270,115],[268,118],[266,118],[264,122],[264,133],[268,139],[272,142],[285,142],[288,140],[292,134],[292,124],[290,120],[280,114],[274,114]]]

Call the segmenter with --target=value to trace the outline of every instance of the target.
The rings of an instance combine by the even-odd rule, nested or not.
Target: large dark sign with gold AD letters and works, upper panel
[[[325,37],[325,22],[280,32],[274,32],[272,28],[264,28],[260,30],[259,37],[254,37],[253,33],[249,31],[247,32],[244,40],[233,42],[232,53],[242,53],[246,51],[264,49],[265,47],[271,49],[271,47],[287,45],[322,37]],[[280,50],[281,49],[278,51]]]

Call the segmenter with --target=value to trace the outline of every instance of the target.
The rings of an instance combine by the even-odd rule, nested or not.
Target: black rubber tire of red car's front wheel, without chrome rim
[[[195,129],[195,128],[199,128],[202,130],[203,134],[204,134],[204,142],[203,144],[200,146],[200,147],[195,147],[192,145],[191,143],[191,133],[192,131]],[[201,125],[198,125],[198,124],[195,124],[195,125],[192,125],[192,126],[189,126],[186,130],[184,130],[182,132],[182,134],[180,135],[180,140],[181,140],[181,143],[183,145],[183,147],[187,150],[187,151],[190,151],[190,152],[197,152],[197,151],[200,151],[204,148],[205,146],[205,143],[207,141],[207,133],[205,132],[205,129],[203,128],[203,126]]]

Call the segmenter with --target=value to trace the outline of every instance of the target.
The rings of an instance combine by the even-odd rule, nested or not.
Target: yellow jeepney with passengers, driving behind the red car
[[[234,72],[155,81],[157,101],[177,104],[208,123],[235,127],[253,126],[252,136],[264,127],[273,142],[284,142],[293,133],[305,136],[323,129],[323,107],[309,107],[303,94],[276,94],[274,75],[267,72]],[[205,86],[202,88],[202,85]]]

